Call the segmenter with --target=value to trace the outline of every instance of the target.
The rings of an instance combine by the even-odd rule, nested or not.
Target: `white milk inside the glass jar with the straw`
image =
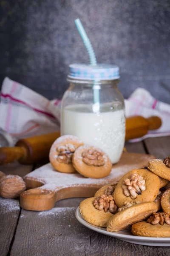
[[[97,114],[87,105],[67,106],[62,111],[61,134],[75,135],[83,143],[101,148],[112,163],[117,163],[125,143],[125,111]]]

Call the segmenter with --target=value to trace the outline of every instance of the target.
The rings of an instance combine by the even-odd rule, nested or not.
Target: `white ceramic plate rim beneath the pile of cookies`
[[[122,230],[118,232],[108,232],[105,227],[97,227],[85,221],[79,212],[79,207],[76,210],[77,220],[83,224],[85,227],[90,228],[96,232],[102,233],[107,236],[113,236],[122,241],[132,243],[132,244],[142,244],[150,246],[170,246],[170,237],[168,238],[156,238],[156,237],[146,237],[146,236],[133,236],[131,229]]]

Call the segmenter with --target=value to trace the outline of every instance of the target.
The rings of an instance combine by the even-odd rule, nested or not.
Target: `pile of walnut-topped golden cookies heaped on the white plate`
[[[170,157],[150,160],[102,187],[81,202],[79,211],[85,221],[109,232],[132,226],[135,236],[170,237]]]

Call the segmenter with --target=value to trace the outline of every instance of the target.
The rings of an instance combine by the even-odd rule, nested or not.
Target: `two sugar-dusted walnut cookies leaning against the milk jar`
[[[84,145],[76,136],[59,137],[49,153],[51,165],[59,172],[79,172],[85,177],[102,178],[109,175],[112,163],[99,148]]]

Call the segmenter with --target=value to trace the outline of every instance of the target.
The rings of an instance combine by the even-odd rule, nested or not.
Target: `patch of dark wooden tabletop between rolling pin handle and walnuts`
[[[32,165],[22,165],[18,162],[7,163],[5,165],[0,166],[0,171],[4,172],[6,175],[12,174],[19,175],[20,177],[27,175],[29,172],[32,171],[32,169]]]

